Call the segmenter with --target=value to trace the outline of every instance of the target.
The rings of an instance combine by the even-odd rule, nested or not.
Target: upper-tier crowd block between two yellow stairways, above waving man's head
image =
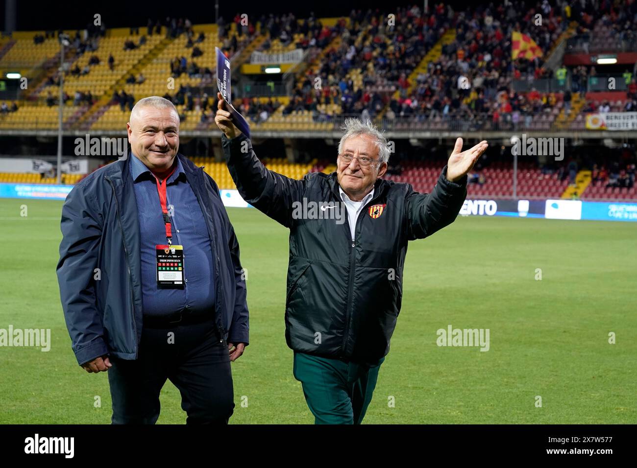
[[[319,104],[337,104],[341,113],[366,111],[375,117],[450,25],[450,16],[451,7],[441,5],[428,15],[418,6],[392,13],[352,10],[348,27],[340,22],[329,36],[340,36],[340,46],[327,50],[317,69],[306,71],[285,111],[315,111],[320,120],[327,116]],[[361,86],[350,74],[355,69],[361,70]]]

